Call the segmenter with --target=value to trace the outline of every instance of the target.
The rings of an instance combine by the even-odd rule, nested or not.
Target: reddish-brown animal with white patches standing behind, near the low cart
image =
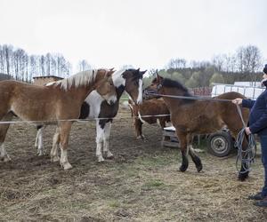
[[[144,139],[142,134],[143,123],[159,123],[163,130],[166,123],[170,122],[170,112],[163,99],[145,99],[141,105],[136,105],[132,99],[129,99],[128,104],[134,119],[136,139]]]

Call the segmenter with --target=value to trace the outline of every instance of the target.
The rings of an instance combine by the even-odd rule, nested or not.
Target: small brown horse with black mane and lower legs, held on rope
[[[192,95],[181,83],[174,80],[163,78],[157,75],[153,79],[146,91],[157,91],[162,95],[166,106],[170,110],[171,122],[176,130],[176,135],[180,142],[182,152],[182,165],[180,170],[187,170],[189,161],[188,154],[195,163],[198,172],[202,170],[202,163],[198,155],[195,154],[192,148],[192,135],[207,134],[222,129],[226,125],[234,138],[237,138],[239,131],[242,130],[238,109],[236,105],[231,103],[232,99],[245,98],[238,92],[226,92],[214,99],[194,100]],[[172,97],[173,96],[173,97]],[[175,96],[189,97],[174,98]],[[223,102],[215,99],[229,99],[228,102]],[[248,120],[248,109],[241,107],[241,112],[244,121]],[[246,139],[243,143],[243,149],[247,148]],[[245,170],[246,163],[241,164],[239,171],[239,179],[245,180],[248,177],[248,171]]]

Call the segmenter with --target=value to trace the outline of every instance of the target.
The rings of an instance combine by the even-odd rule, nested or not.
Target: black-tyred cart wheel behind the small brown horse
[[[226,131],[215,132],[207,139],[207,151],[218,157],[227,156],[233,148],[233,140]]]

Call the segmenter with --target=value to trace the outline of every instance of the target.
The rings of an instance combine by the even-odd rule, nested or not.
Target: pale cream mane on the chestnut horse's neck
[[[96,69],[90,69],[71,75],[68,78],[51,83],[51,85],[60,85],[65,91],[69,90],[74,85],[75,88],[91,83],[97,74]]]

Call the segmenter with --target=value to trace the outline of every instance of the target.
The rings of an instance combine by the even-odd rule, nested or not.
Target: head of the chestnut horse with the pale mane
[[[104,77],[102,77],[102,72],[105,72]],[[95,91],[97,91],[109,105],[113,105],[117,102],[117,92],[112,80],[112,74],[114,72],[113,68],[99,69],[97,73],[97,75],[99,75],[98,83],[95,86]]]

